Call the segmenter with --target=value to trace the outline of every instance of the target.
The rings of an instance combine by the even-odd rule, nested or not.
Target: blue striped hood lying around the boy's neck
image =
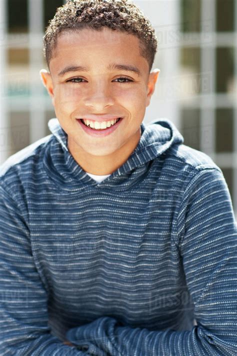
[[[109,177],[97,183],[70,154],[67,134],[57,118],[48,121],[48,128],[53,138],[45,148],[44,168],[50,178],[67,191],[84,189],[86,186],[93,186],[95,189],[127,190],[144,178],[154,160],[162,161],[171,147],[184,142],[183,136],[168,119],[155,119],[147,125],[141,123],[141,137],[134,151]]]

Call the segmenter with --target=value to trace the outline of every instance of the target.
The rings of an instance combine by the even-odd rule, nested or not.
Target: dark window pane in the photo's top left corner
[[[7,0],[8,32],[27,32],[27,0]]]

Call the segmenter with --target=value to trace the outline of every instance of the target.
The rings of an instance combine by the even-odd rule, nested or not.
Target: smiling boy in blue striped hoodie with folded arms
[[[44,50],[52,135],[1,166],[0,354],[236,355],[228,187],[169,119],[142,123],[149,21],[68,2]]]

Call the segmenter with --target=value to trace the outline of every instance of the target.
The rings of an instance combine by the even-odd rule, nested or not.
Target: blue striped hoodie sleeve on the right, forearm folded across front
[[[197,325],[184,331],[150,331],[107,316],[68,330],[71,342],[93,342],[112,356],[237,354],[237,226],[220,170],[201,169],[189,179],[176,227]]]

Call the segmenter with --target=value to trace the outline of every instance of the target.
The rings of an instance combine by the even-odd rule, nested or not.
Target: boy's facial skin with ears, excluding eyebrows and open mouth
[[[68,135],[72,156],[116,155],[122,147],[127,152],[136,147],[145,108],[159,74],[159,70],[149,74],[148,63],[139,51],[135,36],[105,27],[100,32],[83,29],[58,36],[49,63],[50,74],[42,70],[40,75],[56,117]],[[140,75],[124,69],[108,69],[112,64],[136,67]],[[77,69],[60,75],[64,69],[77,66],[88,70]],[[121,77],[131,82],[118,80]],[[89,115],[123,119],[109,135],[95,137],[86,133],[76,120]]]

